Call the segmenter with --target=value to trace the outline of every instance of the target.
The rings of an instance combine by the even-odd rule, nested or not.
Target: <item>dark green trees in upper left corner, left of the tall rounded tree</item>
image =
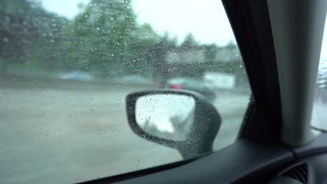
[[[0,68],[8,66],[58,68],[64,56],[64,17],[48,13],[34,1],[0,1]],[[55,51],[55,52],[54,52]]]

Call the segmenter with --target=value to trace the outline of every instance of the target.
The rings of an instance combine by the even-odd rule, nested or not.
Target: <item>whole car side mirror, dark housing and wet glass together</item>
[[[126,109],[136,135],[176,148],[184,159],[211,153],[221,125],[216,108],[191,91],[131,93],[126,97]]]

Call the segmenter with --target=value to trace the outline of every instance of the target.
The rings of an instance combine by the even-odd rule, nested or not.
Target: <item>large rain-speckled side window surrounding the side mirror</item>
[[[182,160],[129,127],[126,95],[157,89],[193,91],[217,109],[214,151],[235,141],[251,91],[220,1],[0,1],[1,183],[76,183]],[[168,100],[194,107],[178,99]],[[187,112],[170,120],[187,129]]]

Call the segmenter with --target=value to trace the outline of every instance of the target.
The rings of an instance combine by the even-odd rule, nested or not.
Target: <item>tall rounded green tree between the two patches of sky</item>
[[[123,72],[122,66],[133,56],[136,15],[130,1],[91,1],[71,28],[71,59],[78,68],[100,70],[102,77]]]

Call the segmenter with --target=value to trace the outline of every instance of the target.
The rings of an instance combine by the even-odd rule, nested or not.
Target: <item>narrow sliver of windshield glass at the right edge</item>
[[[321,45],[321,56],[317,76],[316,93],[312,112],[312,126],[327,130],[327,26],[325,24],[324,38]]]

